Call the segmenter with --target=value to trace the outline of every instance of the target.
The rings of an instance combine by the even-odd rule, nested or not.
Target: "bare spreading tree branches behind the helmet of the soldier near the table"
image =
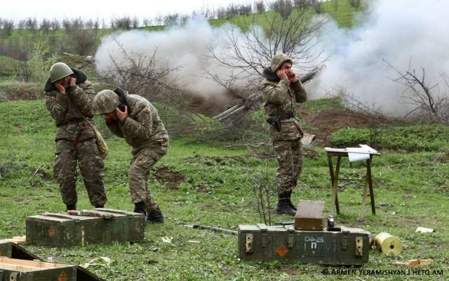
[[[225,67],[260,77],[263,68],[277,53],[286,53],[295,64],[309,65],[309,69],[321,63],[318,60],[322,52],[316,52],[314,47],[318,44],[317,32],[326,20],[311,21],[307,11],[298,11],[287,19],[279,13],[264,14],[262,21],[266,29],[263,31],[259,21],[253,17],[252,22],[244,22],[248,30],[243,38],[238,27],[229,27],[225,34],[226,48],[220,52],[210,48],[210,56]]]

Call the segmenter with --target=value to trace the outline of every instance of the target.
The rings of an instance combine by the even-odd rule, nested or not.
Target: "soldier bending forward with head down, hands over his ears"
[[[100,91],[93,104],[112,133],[131,146],[133,159],[128,169],[128,185],[134,211],[147,214],[149,222],[163,223],[161,209],[147,186],[149,171],[168,148],[168,133],[156,107],[145,98],[128,95],[121,89]]]

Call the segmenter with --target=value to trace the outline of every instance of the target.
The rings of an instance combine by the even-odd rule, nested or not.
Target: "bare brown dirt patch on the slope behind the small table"
[[[344,108],[321,110],[311,112],[310,110],[301,110],[301,116],[314,127],[316,135],[314,145],[329,145],[330,134],[342,128],[372,128],[384,126],[382,119],[377,119],[361,112],[354,112]]]

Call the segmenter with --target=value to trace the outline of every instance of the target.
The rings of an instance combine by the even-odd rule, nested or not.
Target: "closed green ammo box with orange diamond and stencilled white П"
[[[341,227],[341,231],[295,230],[293,226],[239,226],[239,258],[248,261],[297,261],[326,265],[362,265],[368,262],[368,232]]]

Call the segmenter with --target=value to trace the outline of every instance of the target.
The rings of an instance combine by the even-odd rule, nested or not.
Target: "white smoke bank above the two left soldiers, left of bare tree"
[[[129,60],[123,55],[121,47],[130,55],[133,53],[151,55],[156,50],[156,66],[159,68],[180,67],[170,74],[175,80],[194,93],[211,96],[225,92],[225,88],[209,79],[205,70],[217,74],[221,79],[232,75],[228,67],[217,65],[209,58],[208,48],[220,53],[227,48],[226,32],[229,26],[214,28],[203,18],[194,18],[183,27],[171,27],[164,32],[129,31],[112,34],[102,39],[102,44],[95,54],[97,71],[106,74],[114,70],[114,58],[118,65],[126,65]],[[243,36],[237,34],[238,36]],[[243,83],[243,81],[242,81]]]

